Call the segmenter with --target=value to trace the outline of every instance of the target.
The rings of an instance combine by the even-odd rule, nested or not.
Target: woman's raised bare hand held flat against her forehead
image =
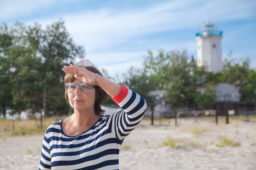
[[[86,68],[70,64],[70,66],[64,66],[63,71],[65,73],[75,74],[77,79],[80,79],[88,85],[94,84],[94,77],[96,74]]]

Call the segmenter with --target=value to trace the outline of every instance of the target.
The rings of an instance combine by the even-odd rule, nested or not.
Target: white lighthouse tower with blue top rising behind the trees
[[[223,31],[218,30],[210,20],[204,22],[201,31],[195,34],[198,42],[197,65],[206,66],[209,72],[216,73],[222,70],[222,34]]]

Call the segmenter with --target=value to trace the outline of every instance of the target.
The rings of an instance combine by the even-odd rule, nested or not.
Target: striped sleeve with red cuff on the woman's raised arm
[[[147,104],[145,99],[136,92],[123,85],[121,87],[120,93],[112,97],[113,101],[122,108],[121,111],[112,115],[112,129],[118,139],[124,140],[142,120]]]

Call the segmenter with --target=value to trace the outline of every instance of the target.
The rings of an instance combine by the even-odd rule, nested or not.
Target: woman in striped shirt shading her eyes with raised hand
[[[116,170],[125,137],[140,123],[146,102],[139,94],[102,76],[93,65],[64,66],[65,98],[74,113],[50,125],[44,135],[39,169]],[[103,115],[111,96],[121,110]]]

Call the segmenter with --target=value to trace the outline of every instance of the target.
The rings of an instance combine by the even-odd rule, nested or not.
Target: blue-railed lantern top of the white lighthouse
[[[222,36],[223,31],[218,30],[215,25],[209,20],[207,23],[204,22],[204,26],[201,31],[195,33],[196,37],[203,36]]]

